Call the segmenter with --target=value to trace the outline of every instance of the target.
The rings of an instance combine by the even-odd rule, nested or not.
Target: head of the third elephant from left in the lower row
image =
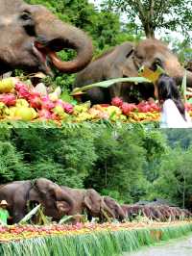
[[[123,209],[113,198],[109,196],[104,196],[104,201],[108,205],[108,208],[111,210],[116,219],[122,221],[126,218]]]

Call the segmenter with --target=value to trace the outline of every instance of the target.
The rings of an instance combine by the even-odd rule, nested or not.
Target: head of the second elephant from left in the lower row
[[[84,195],[84,207],[91,217],[102,217],[104,211],[109,218],[115,218],[103,197],[93,189],[86,190]]]

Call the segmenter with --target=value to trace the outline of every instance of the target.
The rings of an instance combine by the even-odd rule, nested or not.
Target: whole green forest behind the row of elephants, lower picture
[[[121,202],[164,198],[190,207],[192,134],[182,130],[1,130],[0,180],[46,177],[73,188],[92,187]]]

